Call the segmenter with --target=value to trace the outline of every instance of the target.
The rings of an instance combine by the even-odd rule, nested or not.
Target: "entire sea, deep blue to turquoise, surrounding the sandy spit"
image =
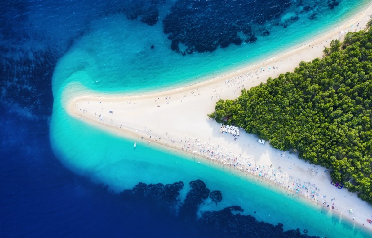
[[[1,1],[0,237],[367,237],[300,202],[272,204],[286,198],[228,172],[162,151],[135,155],[132,142],[60,105],[76,93],[71,83],[130,93],[239,69],[368,2]],[[178,167],[163,163],[171,157]]]

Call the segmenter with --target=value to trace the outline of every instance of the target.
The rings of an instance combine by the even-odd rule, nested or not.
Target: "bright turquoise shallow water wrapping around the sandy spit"
[[[239,205],[245,214],[272,224],[281,222],[284,229],[308,229],[308,235],[320,237],[366,237],[341,218],[298,198],[283,196],[262,182],[237,176],[235,171],[208,162],[199,164],[192,158],[148,148],[146,144],[138,143],[134,150],[132,140],[118,138],[71,118],[64,110],[65,101],[89,91],[131,94],[169,89],[209,79],[226,70],[240,69],[326,32],[366,3],[368,1],[341,1],[333,11],[320,9],[317,19],[311,22],[298,14],[299,20],[286,28],[266,26],[270,35],[257,36],[255,43],[186,56],[171,51],[161,21],[150,27],[121,14],[102,17],[91,23],[89,32],[74,43],[55,69],[50,126],[52,148],[72,171],[107,184],[117,192],[130,189],[138,182],[183,181],[186,194],[186,184],[201,179],[211,191],[220,190],[223,195],[217,206],[207,200],[201,207],[203,211]],[[160,19],[169,9],[170,5],[160,9]],[[289,9],[282,16],[283,21],[292,15]]]

